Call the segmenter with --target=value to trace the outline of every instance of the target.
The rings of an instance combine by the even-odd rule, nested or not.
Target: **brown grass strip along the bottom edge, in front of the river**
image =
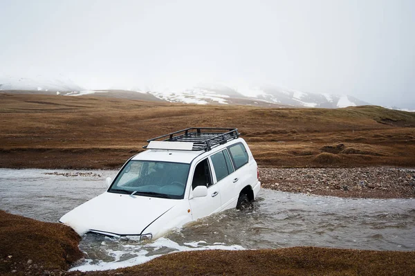
[[[415,275],[415,252],[295,247],[164,255],[123,275]],[[91,273],[98,275],[99,273]]]

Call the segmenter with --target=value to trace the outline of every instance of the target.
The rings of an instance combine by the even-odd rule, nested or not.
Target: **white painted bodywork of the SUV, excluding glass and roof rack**
[[[196,221],[216,212],[237,208],[240,194],[246,194],[250,201],[255,199],[261,187],[261,183],[258,181],[257,163],[242,138],[235,138],[223,145],[217,145],[209,151],[178,150],[174,149],[175,145],[176,147],[186,147],[186,145],[175,143],[166,143],[166,147],[173,147],[173,149],[147,149],[130,158],[120,169],[107,192],[68,212],[59,221],[71,226],[78,234],[96,232],[116,237],[138,236],[140,239],[156,239],[168,230],[180,228],[185,223]],[[157,143],[154,145],[160,146]],[[242,148],[241,145],[246,149],[248,163],[235,169],[236,161],[232,159],[234,172],[231,172],[232,168],[229,166],[230,161],[226,154],[232,156],[230,149],[239,150]],[[214,156],[214,154],[216,155]],[[219,159],[222,155],[223,160],[228,162],[226,163],[228,175],[221,176],[223,178],[218,181],[217,172],[224,170],[223,166],[219,167],[217,165],[219,161],[222,161],[222,159]],[[183,196],[181,195],[183,198],[166,199],[151,195],[140,195],[140,192],[131,192],[131,190],[129,190],[131,194],[112,192],[111,187],[114,187],[114,185],[117,185],[116,182],[120,181],[118,179],[122,172],[125,175],[129,174],[131,166],[135,164],[134,162],[140,163],[138,170],[142,170],[144,166],[142,164],[146,164],[147,161],[160,161],[166,164],[180,163],[184,164],[183,166],[188,164],[190,169],[186,176]],[[127,171],[126,166],[128,164],[131,165],[129,165],[130,168]],[[197,177],[206,177],[207,181],[208,171],[205,168],[209,167],[212,178],[210,185],[206,183],[206,185],[199,185],[200,187],[192,187],[192,185],[196,185],[195,169],[198,165]],[[202,166],[204,168],[203,173],[201,173]],[[226,173],[226,170],[224,172]],[[172,185],[178,186],[175,189],[181,189],[181,184],[174,181]],[[159,190],[165,189],[165,187],[159,188]],[[168,189],[171,189],[171,187],[167,187]]]

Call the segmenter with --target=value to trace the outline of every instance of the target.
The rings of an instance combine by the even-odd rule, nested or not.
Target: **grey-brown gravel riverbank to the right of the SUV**
[[[415,197],[415,169],[396,167],[259,168],[263,188],[322,196],[374,199]]]

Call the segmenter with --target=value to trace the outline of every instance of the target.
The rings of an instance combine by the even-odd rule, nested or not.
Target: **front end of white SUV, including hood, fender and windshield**
[[[187,163],[131,159],[107,192],[59,221],[78,234],[158,237],[192,219],[187,212],[189,203],[184,199],[189,169]]]

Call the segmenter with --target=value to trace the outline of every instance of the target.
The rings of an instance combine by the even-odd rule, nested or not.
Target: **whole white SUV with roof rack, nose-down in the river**
[[[147,140],[104,194],[59,221],[79,234],[154,239],[230,208],[254,201],[258,168],[238,129],[189,128]]]

